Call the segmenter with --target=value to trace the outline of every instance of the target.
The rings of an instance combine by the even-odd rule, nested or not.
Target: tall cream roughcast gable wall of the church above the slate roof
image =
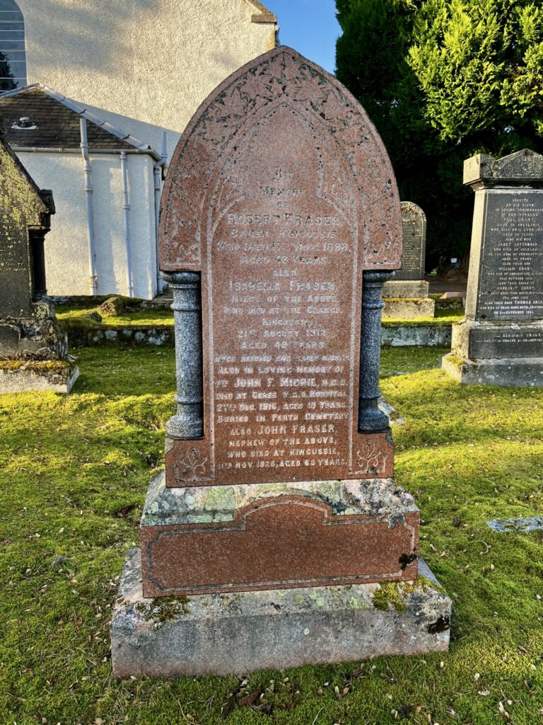
[[[169,155],[231,72],[274,47],[251,0],[18,0],[28,83],[44,83]]]

